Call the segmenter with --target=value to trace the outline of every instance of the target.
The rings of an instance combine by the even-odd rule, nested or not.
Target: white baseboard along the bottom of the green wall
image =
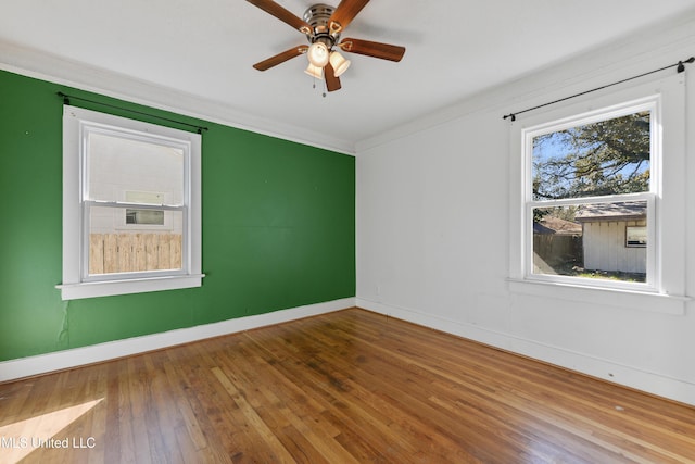
[[[228,319],[213,324],[187,327],[142,337],[126,338],[89,347],[56,351],[36,356],[21,358],[0,362],[0,381],[14,380],[54,371],[62,371],[86,364],[99,363],[116,358],[159,350],[181,343],[218,337],[257,327],[280,324],[303,317],[330,313],[352,308],[354,298],[327,301],[324,303],[298,306],[288,310],[274,311],[236,319]]]

